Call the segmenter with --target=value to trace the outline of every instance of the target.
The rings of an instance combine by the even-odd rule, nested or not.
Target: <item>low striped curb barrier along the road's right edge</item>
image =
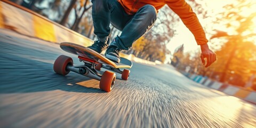
[[[202,84],[204,86],[210,87],[221,92],[224,92],[228,95],[252,102],[256,104],[256,91],[246,89],[245,87],[239,87],[231,84],[220,83],[218,81],[213,81],[210,78],[203,77],[200,75],[182,73],[193,81]]]

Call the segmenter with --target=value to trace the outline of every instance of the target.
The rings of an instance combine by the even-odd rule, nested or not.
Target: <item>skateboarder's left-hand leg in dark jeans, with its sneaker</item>
[[[119,20],[122,20],[123,9],[116,0],[92,0],[92,3],[94,34],[97,35],[98,41],[95,41],[89,48],[101,53],[108,47],[110,42],[110,15],[114,13],[116,17],[119,17]],[[118,22],[118,20],[116,21]]]

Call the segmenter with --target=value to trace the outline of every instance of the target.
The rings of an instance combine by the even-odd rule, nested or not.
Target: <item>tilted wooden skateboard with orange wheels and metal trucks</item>
[[[65,76],[70,71],[73,71],[77,74],[97,79],[100,81],[100,89],[106,92],[110,92],[113,89],[116,81],[115,73],[122,74],[122,79],[124,80],[127,80],[130,76],[130,70],[126,69],[132,68],[130,60],[121,57],[121,61],[116,63],[107,59],[103,54],[74,43],[60,43],[60,48],[66,52],[78,55],[79,61],[83,62],[84,65],[73,66],[72,58],[60,55],[53,64],[53,70],[57,74]],[[101,73],[101,68],[108,70]]]

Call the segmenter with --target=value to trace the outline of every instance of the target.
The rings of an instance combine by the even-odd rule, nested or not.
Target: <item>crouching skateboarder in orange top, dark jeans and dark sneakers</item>
[[[170,9],[179,15],[186,27],[195,36],[196,42],[201,46],[201,60],[205,64],[207,58],[208,67],[216,60],[205,37],[204,30],[199,23],[196,14],[185,0],[92,0],[92,19],[94,34],[98,41],[95,41],[90,49],[101,53],[107,49],[106,58],[119,62],[119,52],[129,50],[133,42],[145,34],[155,23],[157,10],[167,4]],[[110,23],[122,31],[110,43]]]

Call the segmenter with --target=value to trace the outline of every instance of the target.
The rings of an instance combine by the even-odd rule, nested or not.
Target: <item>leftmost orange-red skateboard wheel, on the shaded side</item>
[[[67,75],[70,70],[67,70],[67,66],[73,66],[73,59],[66,55],[60,55],[53,64],[53,70],[60,75]]]

